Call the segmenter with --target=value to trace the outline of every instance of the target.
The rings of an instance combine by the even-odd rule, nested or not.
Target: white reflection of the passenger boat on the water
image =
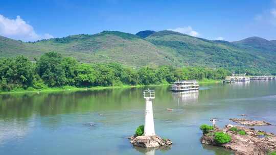
[[[190,90],[190,91],[182,91],[182,92],[173,92],[172,96],[175,100],[177,100],[177,105],[179,106],[179,102],[189,103],[189,102],[197,102],[198,99],[198,90]]]

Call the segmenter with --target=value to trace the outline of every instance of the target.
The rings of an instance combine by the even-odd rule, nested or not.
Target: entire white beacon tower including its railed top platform
[[[153,111],[152,111],[152,100],[155,98],[154,90],[144,90],[144,98],[146,99],[146,109],[145,109],[145,126],[144,126],[144,136],[153,136],[154,132],[154,121],[153,121]]]

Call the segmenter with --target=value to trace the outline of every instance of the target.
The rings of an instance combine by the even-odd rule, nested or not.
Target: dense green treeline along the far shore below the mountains
[[[176,80],[221,80],[229,70],[206,67],[145,66],[80,63],[61,54],[45,53],[36,62],[27,57],[0,58],[0,91],[32,91],[72,86],[136,86],[170,84]]]

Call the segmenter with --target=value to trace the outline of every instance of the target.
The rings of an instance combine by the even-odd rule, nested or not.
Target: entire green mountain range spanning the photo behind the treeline
[[[271,73],[276,70],[274,46],[256,38],[238,42],[211,41],[173,31],[142,31],[133,35],[103,31],[94,35],[21,42],[0,37],[0,57],[24,55],[39,58],[49,51],[75,57],[80,62],[119,62],[139,67],[145,65],[208,66],[232,70]],[[258,40],[258,38],[257,38]],[[253,42],[253,43],[252,43]]]

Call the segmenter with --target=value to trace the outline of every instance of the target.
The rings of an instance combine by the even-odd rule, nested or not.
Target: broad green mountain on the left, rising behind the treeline
[[[4,37],[2,37],[4,38]],[[95,35],[73,35],[64,38],[25,43],[4,38],[0,40],[0,57],[25,55],[31,59],[43,53],[57,51],[81,62],[119,62],[130,66],[165,64],[164,51],[143,38],[118,31],[104,31]],[[150,56],[150,57],[149,57]]]

